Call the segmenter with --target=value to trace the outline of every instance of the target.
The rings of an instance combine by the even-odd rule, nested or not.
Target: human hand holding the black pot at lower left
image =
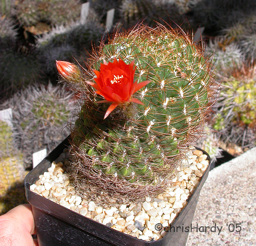
[[[19,205],[0,216],[0,246],[38,246],[32,208]]]

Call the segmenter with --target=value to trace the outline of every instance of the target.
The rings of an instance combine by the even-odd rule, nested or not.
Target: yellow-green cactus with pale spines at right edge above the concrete
[[[235,142],[242,149],[256,143],[256,86],[255,67],[239,77],[223,81],[220,96],[211,120],[224,142]]]

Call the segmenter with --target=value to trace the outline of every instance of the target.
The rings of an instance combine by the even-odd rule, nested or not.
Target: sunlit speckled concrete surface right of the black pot
[[[192,228],[187,246],[256,246],[256,148],[209,172]]]

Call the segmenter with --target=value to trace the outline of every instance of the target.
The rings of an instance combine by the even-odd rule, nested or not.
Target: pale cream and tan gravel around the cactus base
[[[66,148],[30,190],[115,230],[145,241],[158,240],[165,236],[170,224],[187,205],[209,165],[206,158],[202,151],[191,148],[173,184],[164,193],[154,198],[145,197],[144,202],[138,204],[105,207],[76,195],[69,180],[69,149]]]

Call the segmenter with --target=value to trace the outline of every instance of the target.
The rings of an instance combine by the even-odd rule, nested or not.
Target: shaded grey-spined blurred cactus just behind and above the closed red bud
[[[88,22],[83,25],[80,22],[54,27],[49,33],[37,39],[37,49],[40,52],[40,60],[43,61],[43,70],[53,78],[57,78],[55,60],[79,62],[87,57],[91,51],[92,43],[98,44],[104,34],[104,28],[97,21],[97,16],[90,11]]]

